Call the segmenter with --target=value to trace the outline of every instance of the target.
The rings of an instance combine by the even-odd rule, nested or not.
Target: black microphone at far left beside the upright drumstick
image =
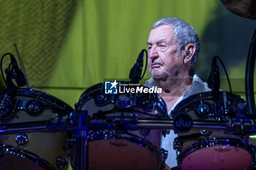
[[[23,74],[23,72],[21,72],[21,70],[19,69],[18,63],[15,60],[14,56],[13,55],[10,55],[10,56],[11,56],[12,66],[14,68],[14,72],[12,72],[12,78],[15,79],[15,82],[17,83],[18,87],[22,87],[26,85],[26,77]]]

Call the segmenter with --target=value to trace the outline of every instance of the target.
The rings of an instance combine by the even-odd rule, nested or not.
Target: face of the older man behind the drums
[[[175,78],[181,72],[181,52],[173,28],[158,26],[148,36],[148,71],[154,79]]]

